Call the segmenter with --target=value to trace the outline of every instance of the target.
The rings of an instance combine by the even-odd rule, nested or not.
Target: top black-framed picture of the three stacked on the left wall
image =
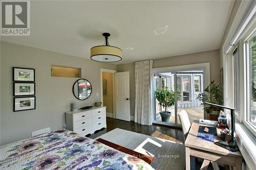
[[[13,81],[34,82],[35,69],[13,67]]]

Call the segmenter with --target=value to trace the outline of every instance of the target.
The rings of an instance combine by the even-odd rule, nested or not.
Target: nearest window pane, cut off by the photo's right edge
[[[256,31],[246,40],[246,122],[256,130]]]

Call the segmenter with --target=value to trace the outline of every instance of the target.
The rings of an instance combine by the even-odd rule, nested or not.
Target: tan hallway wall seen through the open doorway
[[[106,106],[106,112],[113,116],[113,73],[102,72],[102,79],[106,80],[106,94],[103,94],[103,106]]]

